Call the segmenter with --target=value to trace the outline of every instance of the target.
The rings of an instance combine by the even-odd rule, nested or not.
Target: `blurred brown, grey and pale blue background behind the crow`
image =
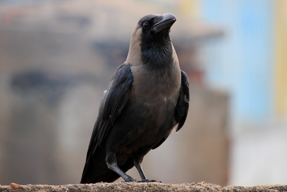
[[[287,1],[0,0],[1,185],[79,183],[103,91],[152,13],[177,16],[190,109],[147,177],[286,184]]]

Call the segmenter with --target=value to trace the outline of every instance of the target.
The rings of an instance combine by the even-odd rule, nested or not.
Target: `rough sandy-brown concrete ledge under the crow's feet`
[[[166,183],[96,183],[96,184],[78,184],[78,185],[0,185],[2,192],[85,192],[85,191],[193,191],[193,192],[287,192],[287,185],[262,185],[255,187],[226,186],[214,185],[210,183],[183,183],[183,184],[166,184]]]

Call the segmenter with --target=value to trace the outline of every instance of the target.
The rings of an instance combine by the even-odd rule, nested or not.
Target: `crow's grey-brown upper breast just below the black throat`
[[[181,86],[181,74],[177,65],[157,70],[147,70],[145,65],[136,67],[132,68],[135,75],[130,100],[139,106],[140,113],[155,118],[174,110]]]

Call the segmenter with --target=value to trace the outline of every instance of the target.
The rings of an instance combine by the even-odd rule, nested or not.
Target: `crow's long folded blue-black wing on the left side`
[[[81,183],[88,182],[94,166],[92,162],[94,155],[102,145],[115,119],[127,104],[132,82],[131,64],[122,64],[119,66],[100,103],[98,117],[88,147]]]

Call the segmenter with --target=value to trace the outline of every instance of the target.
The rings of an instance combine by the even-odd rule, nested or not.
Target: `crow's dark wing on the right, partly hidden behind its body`
[[[189,82],[186,73],[184,71],[181,71],[181,88],[179,90],[179,99],[177,100],[177,106],[175,107],[175,113],[174,113],[174,120],[176,121],[176,123],[178,123],[177,131],[182,128],[185,122],[188,107],[189,107]],[[165,140],[166,137],[160,140],[160,142],[152,149],[156,149]]]

